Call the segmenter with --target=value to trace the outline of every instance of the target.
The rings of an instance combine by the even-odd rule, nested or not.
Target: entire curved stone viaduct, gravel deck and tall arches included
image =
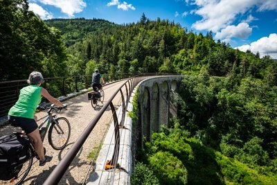
[[[172,94],[181,79],[182,76],[136,76],[109,82],[103,87],[104,104],[96,109],[87,100],[91,89],[74,93],[74,98],[67,94],[64,103],[68,109],[61,116],[71,123],[69,145],[62,151],[53,150],[44,141],[53,160],[43,168],[33,164],[24,184],[130,184],[133,128],[127,112],[133,109],[134,94],[137,93],[139,109],[136,142],[143,146],[143,138],[150,141],[150,133],[159,132],[161,125],[168,126],[170,116],[176,115]],[[37,116],[42,122],[46,112]],[[12,130],[9,125],[2,126],[0,136]]]

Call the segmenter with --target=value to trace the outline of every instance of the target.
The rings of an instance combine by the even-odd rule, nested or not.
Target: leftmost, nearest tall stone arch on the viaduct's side
[[[143,136],[145,136],[147,141],[151,139],[150,130],[150,92],[148,87],[145,87],[143,91]]]

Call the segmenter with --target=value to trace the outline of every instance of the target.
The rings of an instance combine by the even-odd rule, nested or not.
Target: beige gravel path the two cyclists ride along
[[[105,87],[103,87],[105,91],[104,103],[112,94],[114,94],[114,91],[116,91],[120,85],[123,85],[124,82],[125,80],[113,83],[111,85],[105,85]],[[125,87],[123,87],[123,91],[125,91]],[[121,103],[120,99],[120,93],[118,93],[116,98],[113,100],[116,109]],[[51,162],[46,163],[46,165],[43,167],[39,166],[38,161],[34,159],[35,164],[33,164],[30,173],[24,181],[24,184],[43,184],[48,175],[53,171],[55,166],[57,166],[62,157],[64,157],[69,148],[71,148],[76,139],[78,139],[80,134],[82,134],[83,130],[87,127],[87,125],[102,107],[102,104],[100,103],[100,107],[96,107],[94,110],[91,107],[90,100],[87,100],[87,94],[82,94],[75,98],[71,98],[70,100],[66,100],[63,103],[68,105],[68,109],[62,110],[59,116],[68,118],[69,122],[71,123],[71,137],[69,139],[68,146],[66,146],[66,148],[63,150],[54,150],[48,144],[48,139],[46,136],[46,139],[44,140],[46,155],[53,155],[53,159]],[[39,112],[36,115],[39,118],[39,123],[41,123],[44,116],[46,116],[46,112]],[[111,119],[111,110],[108,107],[105,111],[105,114],[102,115],[100,121],[98,121],[98,124],[96,127],[94,127],[93,131],[89,135],[87,141],[84,142],[84,145],[78,152],[78,155],[72,161],[71,166],[69,166],[69,169],[66,170],[66,173],[64,174],[64,177],[62,177],[62,180],[59,184],[82,184],[84,182],[84,178],[87,175],[87,170],[91,162],[88,159],[89,152],[95,148],[98,148],[101,139],[107,130],[107,127],[109,127],[111,123]],[[15,130],[15,127],[10,125],[1,127],[0,136],[9,134],[13,130]],[[4,183],[0,181],[0,184]]]

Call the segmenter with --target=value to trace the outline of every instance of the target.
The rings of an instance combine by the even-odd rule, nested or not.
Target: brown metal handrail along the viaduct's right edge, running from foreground
[[[123,85],[121,85],[115,92],[113,95],[111,95],[111,97],[109,98],[109,100],[107,100],[107,103],[105,103],[105,105],[103,105],[103,107],[100,109],[100,111],[98,112],[98,114],[96,114],[96,116],[93,118],[93,120],[89,123],[89,125],[87,126],[86,129],[84,129],[84,131],[82,132],[82,134],[80,135],[80,137],[75,141],[75,143],[73,144],[73,146],[69,149],[69,151],[66,153],[66,155],[62,158],[62,160],[60,161],[60,163],[55,167],[55,169],[52,171],[52,173],[48,176],[48,178],[46,179],[46,181],[44,182],[44,185],[49,185],[49,184],[58,184],[60,182],[60,180],[62,179],[62,176],[64,175],[64,173],[66,172],[66,170],[69,168],[71,162],[73,161],[73,159],[75,158],[75,156],[78,154],[80,148],[82,148],[82,145],[84,144],[84,141],[87,140],[87,137],[89,136],[89,134],[92,132],[93,128],[96,126],[96,124],[98,123],[98,121],[100,120],[102,114],[104,114],[105,110],[107,109],[108,106],[111,106],[111,109],[114,108],[114,105],[112,104],[112,100],[114,100],[114,97],[118,94],[119,91],[121,91],[121,89],[123,88],[123,86],[126,85],[126,83],[130,83],[131,82],[131,86],[129,86],[129,96],[131,95],[131,91],[134,89],[135,85],[143,80],[146,77],[142,77],[142,76],[135,76],[132,78],[129,78]],[[129,97],[128,97],[129,98]],[[124,100],[124,99],[123,99]],[[113,111],[113,115],[114,111]],[[118,121],[117,121],[117,116],[114,117],[114,124],[118,125]],[[119,129],[118,126],[116,126],[116,129]],[[115,150],[114,150],[114,155],[111,159],[111,164],[117,164],[117,159],[118,157],[116,156],[116,154],[118,154],[117,148],[119,148],[119,138],[116,137],[116,145],[115,145]]]

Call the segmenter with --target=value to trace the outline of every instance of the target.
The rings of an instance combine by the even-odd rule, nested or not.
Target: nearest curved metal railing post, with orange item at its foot
[[[119,154],[119,146],[120,146],[120,136],[119,136],[119,126],[118,126],[118,119],[116,116],[116,109],[114,109],[114,104],[111,102],[109,104],[111,106],[111,112],[114,117],[114,154],[111,157],[111,160],[107,160],[105,165],[105,170],[113,169],[119,166],[117,163],[118,161],[118,154]]]

